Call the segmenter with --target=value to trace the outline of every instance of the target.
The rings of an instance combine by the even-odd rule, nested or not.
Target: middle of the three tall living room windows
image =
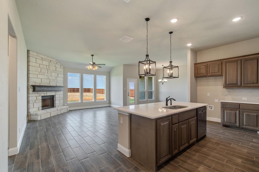
[[[83,101],[94,101],[94,75],[83,75]]]

